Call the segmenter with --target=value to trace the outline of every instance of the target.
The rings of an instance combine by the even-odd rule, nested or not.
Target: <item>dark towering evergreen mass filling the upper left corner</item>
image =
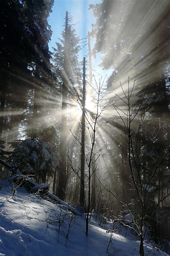
[[[53,0],[10,0],[1,5],[0,136],[5,129],[10,129],[10,132],[4,133],[4,136],[8,135],[8,141],[17,139],[19,125],[23,126],[21,122],[23,118],[25,121],[26,114],[28,116],[28,112],[33,109],[35,114],[38,106],[42,107],[39,103],[40,92],[36,96],[37,86],[39,85],[42,92],[42,98],[44,90],[48,91],[50,87],[49,78],[52,77],[52,72],[48,42],[52,31],[47,18],[52,5]],[[31,94],[33,96],[30,97]],[[31,109],[29,105],[33,101]],[[4,116],[4,110],[9,114]]]

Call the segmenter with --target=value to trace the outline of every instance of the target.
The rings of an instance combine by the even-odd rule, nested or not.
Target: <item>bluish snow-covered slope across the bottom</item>
[[[113,234],[107,252],[110,234],[95,221],[90,221],[89,235],[86,237],[84,216],[74,217],[66,211],[65,206],[31,196],[24,188],[18,188],[13,197],[10,188],[12,185],[8,183],[6,188],[3,186],[0,190],[0,256],[139,254],[139,241],[131,241],[119,234]],[[167,255],[147,244],[145,253]]]

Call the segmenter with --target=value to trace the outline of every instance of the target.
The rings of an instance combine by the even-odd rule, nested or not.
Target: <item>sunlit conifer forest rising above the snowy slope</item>
[[[67,207],[65,248],[76,215],[108,238],[105,254],[48,255],[170,253],[169,13],[169,0],[1,1],[0,203],[25,188]],[[117,234],[138,252],[116,250]]]

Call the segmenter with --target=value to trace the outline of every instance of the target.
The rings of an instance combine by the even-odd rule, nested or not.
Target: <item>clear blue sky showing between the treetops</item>
[[[48,18],[48,23],[51,25],[53,35],[51,42],[49,43],[49,50],[52,51],[52,47],[55,47],[55,42],[58,41],[58,37],[61,37],[61,31],[64,29],[63,24],[65,22],[66,11],[70,13],[73,17],[71,24],[78,23],[74,26],[76,29],[77,36],[80,38],[85,38],[88,35],[88,31],[91,31],[91,24],[95,23],[95,18],[93,17],[92,10],[89,9],[89,4],[99,4],[101,0],[55,0],[55,3],[52,8],[52,13]],[[85,40],[83,40],[85,41]],[[93,48],[94,41],[91,43],[91,48]],[[84,45],[84,44],[82,44]],[[88,53],[88,45],[86,45],[80,51],[80,60],[83,60],[83,57]],[[109,75],[110,71],[103,71],[98,67],[100,63],[100,55],[98,54],[96,59],[92,59],[92,65],[94,69],[102,74],[104,77],[105,74]],[[95,72],[94,72],[94,75]]]

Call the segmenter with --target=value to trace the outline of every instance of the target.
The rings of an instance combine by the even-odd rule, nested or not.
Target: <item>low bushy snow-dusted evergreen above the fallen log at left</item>
[[[57,153],[55,148],[36,138],[16,140],[10,143],[14,150],[8,157],[11,164],[11,171],[20,171],[23,174],[38,175],[43,182],[46,182],[46,175],[53,175],[58,166]]]

